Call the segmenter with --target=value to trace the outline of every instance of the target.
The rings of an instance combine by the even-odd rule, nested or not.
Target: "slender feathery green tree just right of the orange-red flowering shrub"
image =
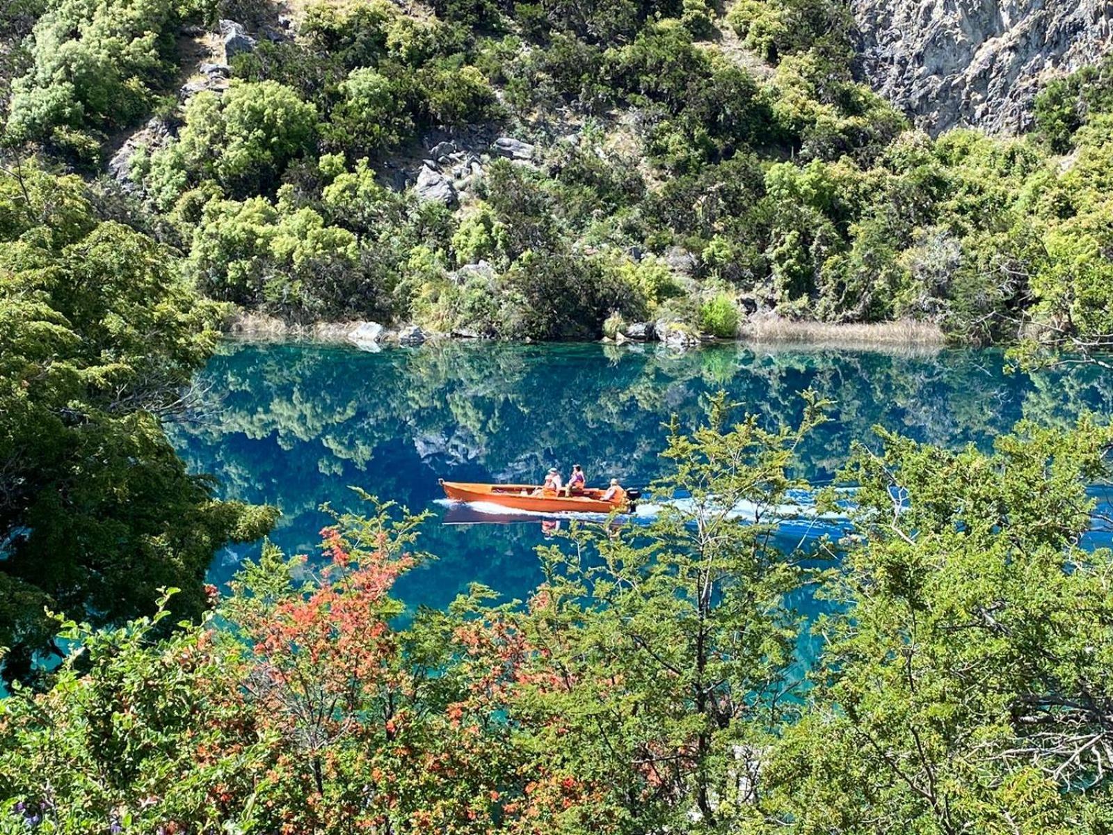
[[[786,596],[805,572],[772,533],[798,485],[794,450],[824,420],[826,404],[805,401],[792,429],[732,423],[721,394],[708,425],[673,422],[659,519],[544,549],[529,612],[495,618],[534,648],[508,720],[526,749],[602,787],[599,826],[735,832],[758,796],[757,753],[795,711]]]

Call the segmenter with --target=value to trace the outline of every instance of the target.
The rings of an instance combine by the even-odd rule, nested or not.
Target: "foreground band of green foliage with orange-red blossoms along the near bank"
[[[313,560],[265,546],[205,626],[167,637],[165,598],[65,623],[50,688],[0,701],[0,824],[1106,832],[1113,553],[1078,537],[1113,430],[883,432],[841,475],[859,536],[804,561],[774,538],[828,406],[804,401],[795,428],[723,394],[674,419],[653,489],[683,501],[540,549],[525,605],[473,586],[402,626],[421,519],[357,491],[366,517],[333,513]],[[836,606],[804,682],[811,593]]]

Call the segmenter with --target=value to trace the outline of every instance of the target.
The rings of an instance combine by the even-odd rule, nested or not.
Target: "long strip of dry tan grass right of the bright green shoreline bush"
[[[794,322],[777,316],[756,316],[742,325],[742,338],[759,344],[815,347],[876,347],[936,351],[943,347],[943,331],[929,322],[900,320],[873,324]]]

